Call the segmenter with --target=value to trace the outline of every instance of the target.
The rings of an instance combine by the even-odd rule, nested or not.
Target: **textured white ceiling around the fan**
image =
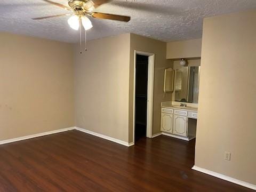
[[[52,0],[54,1],[54,0]],[[55,0],[67,4],[67,0]],[[256,8],[255,0],[113,0],[97,11],[130,15],[128,23],[90,18],[88,38],[135,33],[165,42],[201,38],[203,18]],[[0,0],[0,31],[62,42],[78,42],[78,32],[69,28],[68,16],[31,20],[69,13],[41,0]]]

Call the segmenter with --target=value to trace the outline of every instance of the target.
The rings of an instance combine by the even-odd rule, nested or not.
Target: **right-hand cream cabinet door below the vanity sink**
[[[187,137],[187,117],[173,116],[173,134]]]

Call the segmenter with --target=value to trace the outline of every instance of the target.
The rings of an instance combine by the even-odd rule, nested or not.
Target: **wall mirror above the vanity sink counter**
[[[175,101],[198,103],[200,67],[180,67],[175,70]]]

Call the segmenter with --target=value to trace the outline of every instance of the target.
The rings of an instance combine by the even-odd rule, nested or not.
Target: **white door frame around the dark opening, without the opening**
[[[153,127],[153,98],[154,98],[154,71],[155,54],[134,50],[133,74],[133,143],[135,142],[135,93],[136,93],[136,55],[148,56],[148,90],[147,90],[147,132],[146,137],[152,138]]]

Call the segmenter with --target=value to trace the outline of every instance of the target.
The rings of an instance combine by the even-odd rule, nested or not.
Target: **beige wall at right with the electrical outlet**
[[[195,156],[198,167],[254,185],[255,20],[255,10],[204,20]]]

